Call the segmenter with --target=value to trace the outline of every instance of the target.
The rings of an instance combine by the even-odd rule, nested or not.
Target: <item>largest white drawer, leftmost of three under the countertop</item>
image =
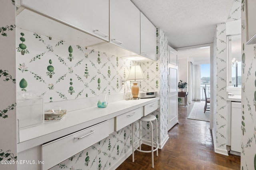
[[[42,145],[42,170],[48,170],[70,156],[108,137],[109,121],[98,123]],[[80,138],[80,139],[78,139]]]

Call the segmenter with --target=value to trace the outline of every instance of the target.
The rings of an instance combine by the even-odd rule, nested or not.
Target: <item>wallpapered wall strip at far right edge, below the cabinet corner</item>
[[[256,169],[256,45],[246,45],[246,1],[241,2],[242,113],[241,170]]]

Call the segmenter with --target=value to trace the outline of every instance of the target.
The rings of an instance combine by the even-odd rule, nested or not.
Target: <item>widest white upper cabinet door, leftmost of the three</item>
[[[22,0],[22,6],[109,40],[108,0]]]

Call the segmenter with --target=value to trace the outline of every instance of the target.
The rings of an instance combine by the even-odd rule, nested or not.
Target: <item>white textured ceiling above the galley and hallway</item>
[[[172,48],[212,43],[234,0],[131,0],[168,37]]]

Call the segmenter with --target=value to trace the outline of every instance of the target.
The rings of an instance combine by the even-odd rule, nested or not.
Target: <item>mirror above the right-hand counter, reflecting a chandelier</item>
[[[228,36],[228,84],[241,87],[242,57],[241,35]]]

